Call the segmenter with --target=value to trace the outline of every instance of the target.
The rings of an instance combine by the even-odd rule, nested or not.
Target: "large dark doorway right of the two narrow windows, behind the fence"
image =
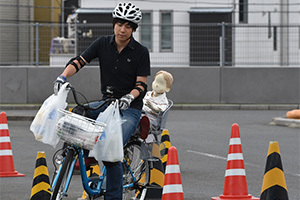
[[[190,10],[190,65],[191,66],[226,66],[232,65],[233,30],[225,27],[225,60],[220,57],[220,37],[222,22],[232,23],[232,9],[195,8]],[[225,61],[225,63],[222,63]]]

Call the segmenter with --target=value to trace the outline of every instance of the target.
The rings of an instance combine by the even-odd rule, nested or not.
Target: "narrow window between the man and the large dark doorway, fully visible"
[[[172,51],[173,47],[173,28],[172,28],[172,13],[170,11],[162,11],[161,29],[160,29],[160,50]]]

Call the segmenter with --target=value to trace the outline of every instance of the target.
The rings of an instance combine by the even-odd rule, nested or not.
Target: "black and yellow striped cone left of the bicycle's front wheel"
[[[39,151],[33,175],[30,200],[49,200],[51,197],[49,173],[45,152]]]

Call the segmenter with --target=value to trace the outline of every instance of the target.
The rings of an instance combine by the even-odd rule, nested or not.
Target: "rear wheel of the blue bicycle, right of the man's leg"
[[[146,176],[146,162],[142,159],[141,142],[133,141],[125,146],[124,160],[127,165],[123,163],[123,185],[131,184],[131,187],[123,188],[123,199],[127,200],[135,197],[139,186],[145,183],[144,179],[141,180]]]

